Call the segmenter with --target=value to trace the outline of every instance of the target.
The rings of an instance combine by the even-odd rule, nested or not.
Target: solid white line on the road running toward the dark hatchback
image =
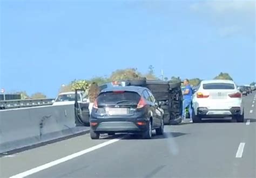
[[[58,159],[58,160],[55,160],[55,161],[46,163],[46,164],[41,165],[41,166],[38,166],[38,167],[36,167],[36,168],[30,169],[30,170],[26,170],[25,172],[19,173],[19,174],[14,175],[14,176],[11,176],[10,178],[25,177],[25,176],[28,176],[28,175],[31,175],[31,174],[35,174],[35,173],[37,173],[37,172],[39,172],[39,171],[41,171],[41,170],[50,168],[50,167],[52,167],[52,166],[56,166],[56,165],[58,165],[58,164],[60,164],[60,163],[63,163],[63,162],[68,161],[68,160],[71,160],[71,159],[76,158],[76,157],[78,157],[78,156],[81,156],[81,155],[83,155],[83,154],[86,154],[86,153],[95,151],[96,149],[102,148],[102,147],[104,147],[104,146],[113,144],[113,143],[119,141],[120,139],[122,139],[122,138],[106,141],[106,142],[104,142],[104,143],[102,143],[102,144],[99,144],[99,145],[96,145],[96,146],[93,146],[93,147],[84,149],[83,151],[80,151],[80,152],[77,152],[77,153],[74,153],[74,154],[65,156],[65,157],[63,157],[63,158],[60,158],[60,159]]]

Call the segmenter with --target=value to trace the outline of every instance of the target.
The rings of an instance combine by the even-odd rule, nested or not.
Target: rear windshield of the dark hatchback
[[[138,104],[140,95],[131,91],[103,92],[97,98],[98,105]]]

